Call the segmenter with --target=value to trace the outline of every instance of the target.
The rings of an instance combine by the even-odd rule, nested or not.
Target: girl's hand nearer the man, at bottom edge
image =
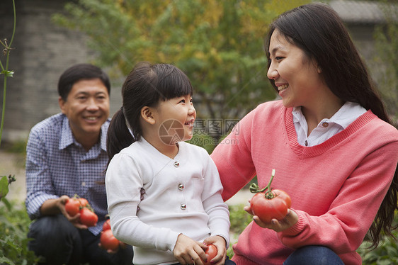
[[[176,246],[173,249],[174,257],[179,263],[203,265],[203,261],[206,259],[205,244],[202,242],[196,242],[195,240],[187,237],[186,235],[178,235]]]

